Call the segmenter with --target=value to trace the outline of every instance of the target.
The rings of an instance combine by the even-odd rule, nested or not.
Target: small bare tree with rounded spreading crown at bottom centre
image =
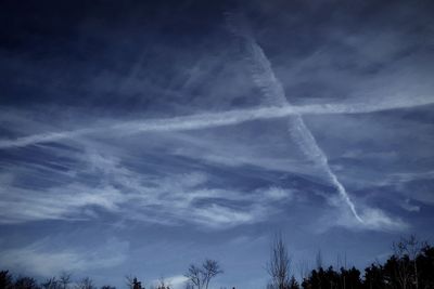
[[[208,289],[209,281],[221,273],[224,272],[217,261],[206,259],[201,266],[191,264],[184,276],[193,287]]]

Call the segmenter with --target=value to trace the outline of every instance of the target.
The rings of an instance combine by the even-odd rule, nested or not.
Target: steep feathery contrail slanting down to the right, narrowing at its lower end
[[[245,47],[251,57],[253,80],[256,86],[263,91],[268,103],[270,105],[279,107],[291,107],[291,104],[288,102],[284,94],[282,83],[277,79],[271,68],[270,62],[265,55],[263,49],[253,37],[253,34],[246,25],[247,22],[243,18],[242,14],[228,14],[227,18],[230,27],[232,28],[232,31],[237,36],[241,37],[245,42]],[[341,184],[341,182],[337,180],[337,176],[330,168],[327,155],[318,146],[315,136],[306,127],[302,115],[299,113],[294,113],[289,118],[290,134],[298,144],[301,150],[306,155],[309,160],[311,160],[314,163],[318,165],[324,170],[333,186],[348,205],[354,216],[359,222],[363,223],[363,220],[357,213],[354,202],[350,200],[345,187]]]

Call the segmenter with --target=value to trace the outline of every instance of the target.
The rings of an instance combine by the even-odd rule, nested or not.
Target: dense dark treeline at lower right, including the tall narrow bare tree
[[[291,262],[282,262],[290,260],[285,258],[288,252],[283,250],[282,253],[280,249],[277,251],[281,255],[277,255],[279,242],[277,245],[270,263],[282,265],[275,267],[276,275],[270,274],[272,283],[269,289],[434,289],[434,247],[414,236],[394,244],[390,258],[384,263],[376,262],[366,267],[363,274],[354,266],[336,270],[317,265],[303,276],[301,284],[293,275],[289,277]]]

